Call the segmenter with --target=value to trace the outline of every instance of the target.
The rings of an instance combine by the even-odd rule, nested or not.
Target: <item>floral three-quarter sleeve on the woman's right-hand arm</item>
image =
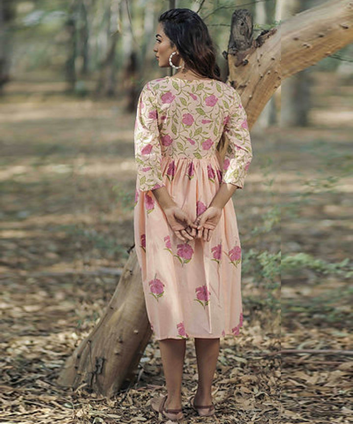
[[[247,115],[240,95],[235,90],[234,102],[224,124],[224,135],[228,140],[228,147],[223,162],[222,183],[230,183],[243,188],[252,161],[252,145]]]

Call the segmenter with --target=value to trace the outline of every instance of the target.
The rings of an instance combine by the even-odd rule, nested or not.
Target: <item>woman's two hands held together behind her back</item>
[[[209,241],[213,230],[221,219],[222,209],[216,206],[210,206],[194,222],[178,206],[171,206],[165,209],[164,213],[176,237],[180,238],[180,240],[203,238],[204,241]]]

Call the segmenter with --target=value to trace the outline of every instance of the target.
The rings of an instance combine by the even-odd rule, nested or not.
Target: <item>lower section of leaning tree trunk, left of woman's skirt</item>
[[[113,396],[126,378],[133,378],[151,334],[133,249],[105,314],[68,359],[58,383],[74,389],[86,383],[95,392]]]

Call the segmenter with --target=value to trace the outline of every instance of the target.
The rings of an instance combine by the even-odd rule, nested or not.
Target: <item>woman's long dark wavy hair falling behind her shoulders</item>
[[[203,77],[221,81],[216,63],[216,49],[208,29],[200,16],[190,9],[170,9],[162,13],[158,22],[176,46],[185,65]]]

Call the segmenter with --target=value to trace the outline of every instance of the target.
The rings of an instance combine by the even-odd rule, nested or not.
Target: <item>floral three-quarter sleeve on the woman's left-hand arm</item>
[[[161,147],[159,142],[156,97],[150,84],[143,87],[138,99],[134,149],[137,164],[137,189],[148,191],[162,187]]]

